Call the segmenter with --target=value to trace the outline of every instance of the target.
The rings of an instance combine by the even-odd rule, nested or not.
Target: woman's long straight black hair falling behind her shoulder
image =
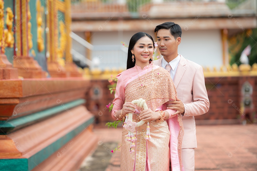
[[[131,50],[134,48],[136,42],[145,36],[149,37],[153,41],[152,36],[150,36],[149,34],[147,34],[145,32],[138,32],[131,37],[129,45],[128,45],[127,69],[133,68],[135,66],[136,58],[134,58],[135,61],[132,62],[133,54],[131,53]],[[154,47],[154,41],[153,41],[153,47]],[[149,61],[152,61],[152,59],[150,59]]]

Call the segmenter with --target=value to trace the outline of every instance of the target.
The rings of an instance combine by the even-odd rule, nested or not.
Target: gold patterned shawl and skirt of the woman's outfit
[[[176,100],[177,92],[170,74],[164,68],[154,69],[140,76],[145,80],[146,88],[143,93],[139,93],[138,87],[142,84],[140,78],[135,78],[125,87],[125,101],[131,102],[135,99],[146,100],[148,108],[155,109],[162,106],[167,101]],[[145,78],[146,77],[146,78]],[[142,92],[142,91],[141,91]],[[139,118],[133,115],[133,121],[139,122]],[[181,115],[178,115],[180,127],[183,127]],[[181,123],[180,123],[181,122]],[[150,134],[152,139],[145,140],[144,135],[146,124],[137,127],[135,130],[136,147],[135,152],[130,154],[130,141],[125,138],[128,130],[123,128],[122,148],[121,148],[121,171],[168,171],[170,161],[170,130],[166,121],[153,120],[150,122]],[[181,143],[183,128],[179,131],[178,150],[181,170]]]

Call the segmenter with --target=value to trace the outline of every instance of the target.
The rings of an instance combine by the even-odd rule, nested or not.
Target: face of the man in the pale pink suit
[[[174,39],[169,30],[160,29],[157,32],[157,44],[162,56],[177,55],[180,40],[180,37]]]

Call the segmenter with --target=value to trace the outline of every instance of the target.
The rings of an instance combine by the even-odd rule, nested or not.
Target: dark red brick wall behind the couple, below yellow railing
[[[240,110],[241,88],[245,81],[248,81],[253,87],[252,100],[254,106],[257,106],[256,76],[205,78],[210,109],[206,114],[195,117],[196,122],[202,121],[203,124],[206,120],[230,119],[237,120],[234,123],[240,123],[240,117],[244,113]],[[111,113],[106,108],[106,105],[114,98],[107,88],[108,84],[107,80],[92,80],[91,89],[86,94],[87,109],[95,115],[96,123],[113,121]],[[255,108],[254,111],[256,111]]]

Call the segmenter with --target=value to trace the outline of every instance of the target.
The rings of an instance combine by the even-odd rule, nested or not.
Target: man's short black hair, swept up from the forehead
[[[181,37],[182,34],[181,27],[174,22],[166,22],[156,26],[154,29],[154,33],[157,34],[160,29],[170,30],[170,33],[174,37],[174,39],[177,39],[177,37]]]

